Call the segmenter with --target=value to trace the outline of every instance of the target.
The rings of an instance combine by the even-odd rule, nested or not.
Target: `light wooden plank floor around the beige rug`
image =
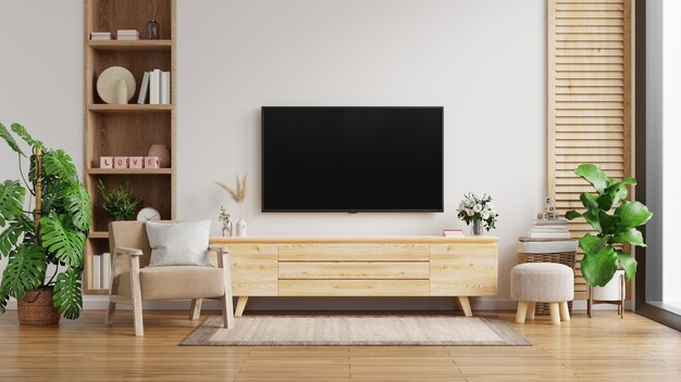
[[[59,328],[20,327],[8,311],[0,381],[681,381],[681,333],[634,314],[513,323],[527,347],[181,347],[199,322],[185,317],[147,311],[146,336],[135,338],[127,311],[112,328],[103,311]]]

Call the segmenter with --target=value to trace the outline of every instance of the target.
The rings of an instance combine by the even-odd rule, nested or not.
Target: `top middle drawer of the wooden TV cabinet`
[[[281,262],[428,262],[428,244],[280,244]]]

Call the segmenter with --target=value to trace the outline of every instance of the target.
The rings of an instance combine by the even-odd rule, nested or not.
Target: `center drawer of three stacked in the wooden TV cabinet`
[[[428,263],[282,262],[280,279],[428,279]]]

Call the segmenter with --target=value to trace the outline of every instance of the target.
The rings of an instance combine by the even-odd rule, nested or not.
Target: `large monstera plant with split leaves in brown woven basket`
[[[21,180],[0,183],[0,257],[8,258],[0,311],[14,297],[22,323],[57,323],[60,316],[76,319],[83,307],[90,196],[69,154],[45,147],[18,124],[11,130],[25,144],[0,124],[0,138],[17,154],[21,174]],[[26,161],[28,166],[23,166]]]

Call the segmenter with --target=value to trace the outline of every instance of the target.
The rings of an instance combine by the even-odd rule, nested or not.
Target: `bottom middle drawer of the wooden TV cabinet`
[[[428,296],[428,280],[278,280],[280,296]]]

